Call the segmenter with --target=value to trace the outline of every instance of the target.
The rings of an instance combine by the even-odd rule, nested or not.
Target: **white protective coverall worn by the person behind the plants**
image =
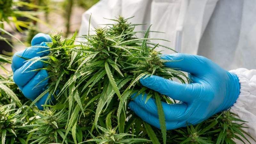
[[[165,34],[151,33],[150,37],[171,41],[156,43],[205,56],[226,70],[234,69],[230,72],[238,76],[241,88],[231,111],[248,122],[249,129],[244,130],[256,139],[256,0],[101,0],[84,12],[79,35],[88,34],[91,14],[90,28],[113,23],[103,18],[135,16],[129,22],[147,24],[135,30],[146,30],[153,24],[152,31]]]

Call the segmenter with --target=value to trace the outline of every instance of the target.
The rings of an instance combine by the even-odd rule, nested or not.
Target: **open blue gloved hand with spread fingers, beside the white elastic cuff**
[[[140,83],[175,100],[177,104],[162,102],[167,130],[185,127],[187,123],[198,124],[212,115],[231,107],[240,93],[235,74],[229,73],[211,60],[197,55],[175,53],[163,55],[165,66],[179,68],[190,73],[190,84],[180,84],[159,76],[140,79]],[[160,128],[154,99],[137,96],[129,107],[147,123]]]

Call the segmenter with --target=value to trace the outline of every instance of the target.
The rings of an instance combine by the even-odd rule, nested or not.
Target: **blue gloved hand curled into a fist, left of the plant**
[[[47,46],[45,42],[51,42],[51,37],[46,34],[39,33],[33,37],[31,41],[32,47],[29,47],[23,51],[16,52],[12,59],[12,71],[13,71],[13,80],[17,84],[24,94],[30,100],[35,100],[42,92],[48,82],[48,73],[46,70],[42,69],[39,71],[31,71],[38,68],[43,68],[44,63],[37,61],[32,66],[30,66],[26,71],[24,71],[32,61],[26,61],[26,59],[32,59],[36,57],[43,57],[49,54],[49,51],[42,52],[47,50],[47,48],[42,47],[33,47],[33,46]],[[41,52],[41,53],[37,53]],[[20,56],[20,57],[19,57]],[[25,59],[23,59],[23,58]],[[24,72],[23,72],[24,71]],[[44,80],[43,82],[41,82]],[[41,82],[40,84],[38,84]],[[38,84],[38,85],[37,85]],[[37,86],[36,86],[37,85]],[[36,86],[36,87],[35,87]],[[47,99],[48,93],[45,94],[39,101],[36,102],[36,106],[43,110],[43,105]]]

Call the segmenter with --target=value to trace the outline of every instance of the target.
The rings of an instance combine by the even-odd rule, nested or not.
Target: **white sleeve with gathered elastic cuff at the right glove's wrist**
[[[248,122],[245,124],[249,128],[243,130],[256,139],[256,69],[238,68],[229,72],[236,74],[240,83],[240,94],[231,112]],[[255,143],[253,140],[251,142]]]

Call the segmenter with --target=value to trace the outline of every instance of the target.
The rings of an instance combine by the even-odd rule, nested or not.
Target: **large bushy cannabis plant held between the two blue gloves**
[[[81,143],[83,140],[96,143],[133,143],[147,142],[144,139],[150,139],[157,144],[232,143],[234,138],[241,140],[237,135],[244,137],[246,132],[241,129],[244,126],[233,123],[232,121],[241,120],[229,112],[213,116],[195,126],[188,124],[187,128],[166,131],[161,101],[175,101],[143,87],[139,80],[151,75],[166,79],[177,78],[181,83],[187,83],[189,79],[178,69],[164,67],[166,60],[162,60],[161,52],[155,49],[171,48],[150,41],[163,39],[148,38],[150,27],[147,31],[134,31],[138,24],[131,24],[128,20],[129,18],[118,17],[115,19],[116,24],[96,28],[93,35],[88,33],[81,36],[84,41],[77,41],[77,44],[74,43],[76,33],[64,40],[61,33],[53,33],[52,42],[47,43],[46,51],[50,54],[27,60],[32,61],[27,68],[36,61],[44,62],[45,68],[40,69],[46,69],[49,73],[44,79],[49,79],[45,91],[29,107],[48,93],[44,109],[54,112],[52,115],[40,116],[42,120],[38,119],[39,122],[31,125],[34,128],[29,133],[34,133],[34,138],[30,140],[34,143],[61,140],[62,143],[67,143],[71,139],[74,143]],[[143,33],[144,37],[137,38],[137,33]],[[148,94],[147,100],[156,99],[161,130],[143,122],[127,108],[127,103],[132,98],[145,93]],[[51,103],[55,105],[50,105]],[[56,118],[52,119],[52,116]],[[58,118],[61,119],[61,124],[56,124],[58,122],[55,119]],[[49,119],[54,120],[54,124],[49,123]],[[56,134],[50,138],[49,133]]]

